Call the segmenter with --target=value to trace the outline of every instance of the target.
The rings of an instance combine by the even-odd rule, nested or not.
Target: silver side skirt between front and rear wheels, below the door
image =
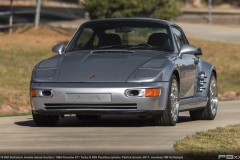
[[[207,105],[208,97],[188,97],[180,99],[179,112],[204,108]]]

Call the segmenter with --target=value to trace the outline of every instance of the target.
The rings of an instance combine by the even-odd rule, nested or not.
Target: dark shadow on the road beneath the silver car
[[[192,121],[189,116],[179,116],[178,123]],[[19,126],[37,127],[33,119],[15,122]],[[75,116],[60,118],[55,127],[152,127],[155,126],[151,116],[138,118],[136,116],[102,116],[100,120],[78,120]]]

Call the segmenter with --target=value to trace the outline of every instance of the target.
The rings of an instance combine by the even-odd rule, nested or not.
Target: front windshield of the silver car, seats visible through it
[[[169,27],[136,20],[93,21],[79,28],[66,51],[118,48],[172,51]]]

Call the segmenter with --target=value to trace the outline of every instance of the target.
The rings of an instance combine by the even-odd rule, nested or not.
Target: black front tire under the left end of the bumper
[[[37,126],[55,126],[58,123],[59,115],[41,115],[32,113],[34,123]]]

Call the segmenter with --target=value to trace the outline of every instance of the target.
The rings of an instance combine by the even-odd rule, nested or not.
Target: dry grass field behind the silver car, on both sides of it
[[[0,113],[2,105],[28,107],[30,75],[35,64],[53,56],[52,46],[67,43],[74,30],[23,27],[0,33]],[[219,92],[240,91],[240,45],[189,39],[201,47],[201,58],[215,64]]]

